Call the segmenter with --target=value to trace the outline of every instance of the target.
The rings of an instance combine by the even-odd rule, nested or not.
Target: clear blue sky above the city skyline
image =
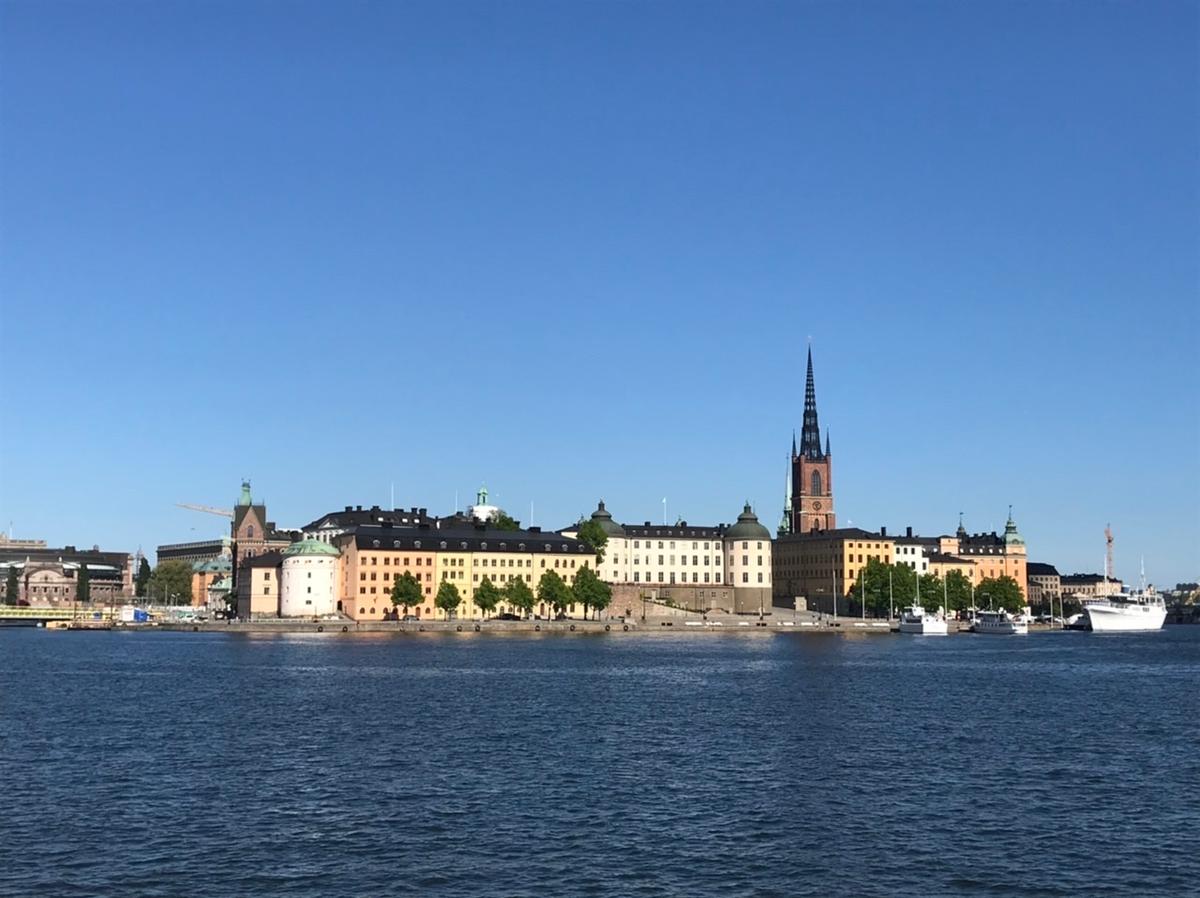
[[[0,5],[0,519],[452,509],[1200,576],[1195,2]]]

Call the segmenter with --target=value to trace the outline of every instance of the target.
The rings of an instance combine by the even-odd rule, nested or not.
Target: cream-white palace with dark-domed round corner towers
[[[592,521],[608,537],[600,579],[625,592],[702,611],[770,611],[770,532],[745,503],[736,523],[617,523],[601,501]],[[575,538],[578,527],[562,531]]]

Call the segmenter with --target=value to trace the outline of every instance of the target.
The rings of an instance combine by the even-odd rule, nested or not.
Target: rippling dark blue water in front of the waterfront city
[[[0,894],[1198,894],[1198,746],[1200,627],[0,630]]]

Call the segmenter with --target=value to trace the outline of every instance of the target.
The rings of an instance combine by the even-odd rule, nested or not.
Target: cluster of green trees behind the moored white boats
[[[972,588],[971,580],[958,570],[949,571],[943,580],[937,574],[918,574],[907,564],[874,558],[859,571],[847,598],[856,607],[865,603],[868,612],[876,617],[914,604],[926,611],[944,605],[952,613],[971,607],[1015,612],[1026,604],[1020,585],[1010,576],[988,577]]]

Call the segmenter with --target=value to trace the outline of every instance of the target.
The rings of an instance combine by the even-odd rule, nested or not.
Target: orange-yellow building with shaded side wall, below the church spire
[[[871,561],[892,564],[895,539],[858,527],[811,529],[779,537],[772,563],[774,600],[785,607],[834,611]]]

